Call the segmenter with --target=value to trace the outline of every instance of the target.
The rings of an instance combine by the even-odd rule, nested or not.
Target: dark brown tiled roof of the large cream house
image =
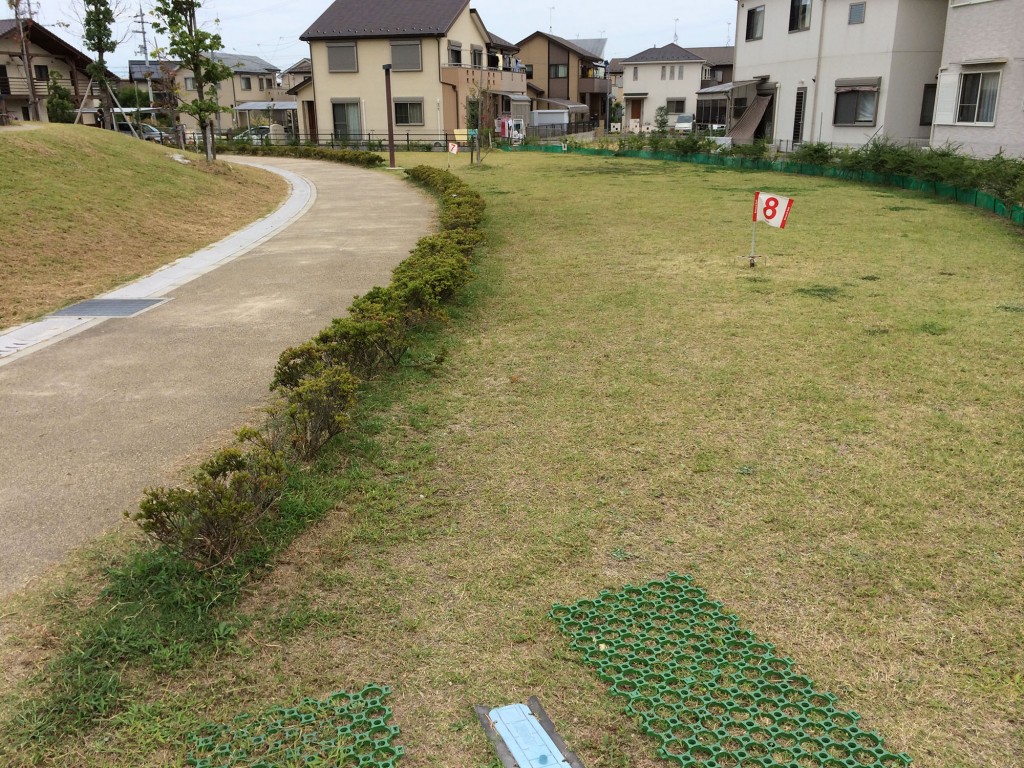
[[[300,40],[443,37],[469,0],[334,0]]]

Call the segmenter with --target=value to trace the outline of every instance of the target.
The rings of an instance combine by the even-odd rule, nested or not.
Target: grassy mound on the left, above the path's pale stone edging
[[[83,126],[0,130],[0,329],[187,256],[285,195],[278,176],[171,154]]]

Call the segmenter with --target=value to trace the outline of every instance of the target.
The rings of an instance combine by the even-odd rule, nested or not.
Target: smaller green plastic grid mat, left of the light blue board
[[[193,768],[280,768],[337,766],[394,768],[404,750],[392,743],[398,727],[388,725],[384,700],[391,689],[368,685],[338,691],[323,701],[304,698],[294,708],[240,715],[188,737],[185,760]]]

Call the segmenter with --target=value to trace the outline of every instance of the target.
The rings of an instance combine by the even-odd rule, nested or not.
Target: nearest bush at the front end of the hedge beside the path
[[[200,465],[195,487],[147,488],[129,514],[151,538],[207,569],[230,562],[275,514],[287,471],[267,451],[218,451]]]

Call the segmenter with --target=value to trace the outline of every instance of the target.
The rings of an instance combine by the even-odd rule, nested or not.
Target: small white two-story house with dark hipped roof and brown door
[[[707,74],[706,65],[706,59],[675,43],[624,58],[624,130],[651,130],[662,106],[667,110],[670,125],[678,115],[692,115],[701,78]]]

